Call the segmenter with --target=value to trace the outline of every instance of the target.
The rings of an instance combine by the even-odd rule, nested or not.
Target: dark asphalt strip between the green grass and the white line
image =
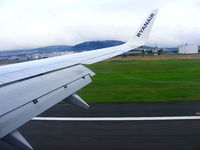
[[[160,117],[200,115],[200,102],[92,103],[89,110],[72,105],[56,105],[43,117]]]

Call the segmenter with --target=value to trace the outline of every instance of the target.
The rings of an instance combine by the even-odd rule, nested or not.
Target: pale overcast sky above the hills
[[[127,41],[156,8],[148,45],[200,44],[200,0],[0,0],[0,50]]]

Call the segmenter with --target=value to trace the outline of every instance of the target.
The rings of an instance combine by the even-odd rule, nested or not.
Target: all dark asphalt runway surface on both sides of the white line
[[[198,116],[200,102],[56,105],[44,117]],[[199,150],[200,120],[30,121],[20,132],[34,150]],[[0,142],[0,150],[16,150]]]

